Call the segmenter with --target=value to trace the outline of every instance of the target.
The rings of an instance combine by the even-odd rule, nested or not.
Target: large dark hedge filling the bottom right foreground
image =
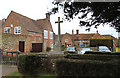
[[[116,77],[120,74],[120,62],[95,60],[59,59],[56,61],[57,76],[79,77]],[[63,78],[62,77],[62,78]]]

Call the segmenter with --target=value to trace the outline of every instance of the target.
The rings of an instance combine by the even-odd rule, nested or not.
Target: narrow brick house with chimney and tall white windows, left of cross
[[[41,25],[44,30],[44,49],[47,47],[54,48],[54,32],[50,22],[50,15],[46,13],[45,19],[38,19],[37,22]]]

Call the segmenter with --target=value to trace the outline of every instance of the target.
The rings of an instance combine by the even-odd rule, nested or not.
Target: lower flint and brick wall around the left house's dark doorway
[[[2,49],[5,51],[19,51],[19,41],[25,41],[25,52],[30,52],[32,49],[31,36],[26,35],[13,35],[3,34],[2,35]]]

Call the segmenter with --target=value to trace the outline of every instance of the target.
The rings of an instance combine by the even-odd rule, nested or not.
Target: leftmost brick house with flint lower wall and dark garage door
[[[11,11],[3,23],[2,34],[2,49],[5,51],[42,52],[45,50],[43,48],[45,32],[42,24],[14,11]],[[49,33],[47,35],[49,36]]]

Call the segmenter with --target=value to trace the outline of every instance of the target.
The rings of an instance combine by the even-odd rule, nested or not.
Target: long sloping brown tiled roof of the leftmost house
[[[27,29],[27,31],[42,33],[42,28],[37,21],[14,11],[11,11],[11,15],[16,17],[20,21],[20,23]]]

